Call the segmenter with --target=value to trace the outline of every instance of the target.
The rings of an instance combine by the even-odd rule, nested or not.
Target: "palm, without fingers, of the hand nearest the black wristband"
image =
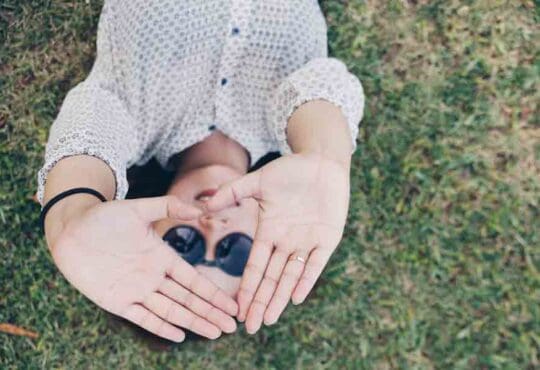
[[[116,314],[143,302],[175,260],[150,225],[119,204],[91,210],[69,231],[55,248],[59,268],[84,295]]]

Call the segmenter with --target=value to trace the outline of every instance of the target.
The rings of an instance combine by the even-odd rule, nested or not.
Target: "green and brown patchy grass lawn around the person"
[[[0,368],[540,368],[540,2],[324,1],[363,81],[345,238],[255,336],[156,351],[54,267],[31,198],[101,2],[0,2]]]

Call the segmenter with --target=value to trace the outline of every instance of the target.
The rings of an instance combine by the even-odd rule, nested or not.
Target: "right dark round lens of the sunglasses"
[[[242,276],[252,244],[253,240],[245,234],[228,235],[216,249],[216,261],[229,275]]]

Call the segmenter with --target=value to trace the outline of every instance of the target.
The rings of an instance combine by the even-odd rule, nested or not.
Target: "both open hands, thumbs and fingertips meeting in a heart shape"
[[[188,329],[208,338],[275,323],[291,300],[303,302],[345,226],[346,166],[292,154],[225,184],[208,200],[219,211],[244,198],[259,205],[258,226],[238,303],[179,257],[152,222],[192,219],[200,210],[174,196],[97,204],[69,220],[52,256],[66,279],[103,309],[180,342]],[[299,258],[296,258],[299,257]]]

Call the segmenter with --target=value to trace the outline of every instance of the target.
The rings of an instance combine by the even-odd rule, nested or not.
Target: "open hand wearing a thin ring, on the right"
[[[238,292],[238,319],[249,333],[277,321],[292,297],[304,301],[341,240],[349,168],[317,154],[276,159],[218,190],[208,211],[243,198],[259,203],[258,226]],[[294,257],[301,257],[301,262]]]

